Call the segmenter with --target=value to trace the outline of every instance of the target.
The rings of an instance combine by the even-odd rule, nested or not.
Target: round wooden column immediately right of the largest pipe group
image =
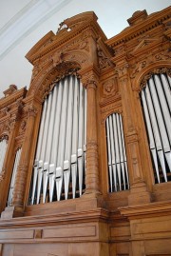
[[[100,188],[96,108],[97,81],[94,77],[86,81],[85,87],[87,94],[85,194],[98,194]]]

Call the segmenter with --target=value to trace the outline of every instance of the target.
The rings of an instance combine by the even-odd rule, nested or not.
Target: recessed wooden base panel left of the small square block
[[[33,238],[34,230],[0,231],[0,239],[28,239]]]

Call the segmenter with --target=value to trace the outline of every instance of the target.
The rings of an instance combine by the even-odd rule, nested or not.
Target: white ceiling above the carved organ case
[[[148,14],[170,5],[170,0],[0,0],[0,97],[15,84],[29,86],[32,66],[28,50],[49,30],[75,14],[93,10],[107,38],[128,26],[136,10]]]

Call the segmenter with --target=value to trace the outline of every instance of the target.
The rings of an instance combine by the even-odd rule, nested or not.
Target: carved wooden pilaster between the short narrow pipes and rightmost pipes
[[[120,88],[122,93],[124,131],[127,143],[128,167],[130,176],[131,193],[128,197],[129,205],[148,203],[150,195],[142,175],[142,163],[140,156],[139,134],[135,122],[135,109],[133,104],[133,92],[128,75],[128,65],[124,62],[118,68],[120,76]]]

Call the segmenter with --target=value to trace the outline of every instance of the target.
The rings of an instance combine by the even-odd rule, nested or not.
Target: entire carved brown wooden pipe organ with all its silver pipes
[[[89,11],[0,100],[0,255],[171,255],[171,9],[107,39]]]

